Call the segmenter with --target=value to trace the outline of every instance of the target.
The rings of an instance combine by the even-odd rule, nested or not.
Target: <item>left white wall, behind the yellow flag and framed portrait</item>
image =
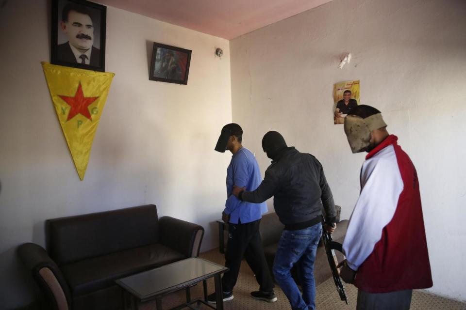
[[[44,245],[47,218],[155,203],[160,216],[201,224],[205,250],[217,246],[226,198],[230,156],[214,147],[232,117],[229,42],[108,7],[106,71],[116,76],[81,182],[40,64],[50,60],[48,3],[0,8],[1,309],[32,300],[16,248]],[[192,50],[188,85],[148,79],[153,42]]]

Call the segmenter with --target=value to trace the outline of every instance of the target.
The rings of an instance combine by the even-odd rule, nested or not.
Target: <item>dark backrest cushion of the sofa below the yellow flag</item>
[[[153,204],[46,221],[48,252],[59,265],[159,243]]]

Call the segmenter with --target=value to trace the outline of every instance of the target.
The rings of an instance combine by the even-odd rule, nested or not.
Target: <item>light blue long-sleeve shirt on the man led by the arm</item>
[[[267,203],[242,202],[234,195],[233,185],[246,186],[246,191],[253,191],[261,184],[262,177],[259,164],[250,150],[242,147],[232,156],[227,168],[227,201],[226,214],[230,215],[230,222],[238,224],[258,220],[267,212]]]

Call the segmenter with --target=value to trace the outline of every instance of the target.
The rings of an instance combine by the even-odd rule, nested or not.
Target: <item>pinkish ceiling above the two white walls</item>
[[[104,5],[230,40],[331,0],[98,1]]]

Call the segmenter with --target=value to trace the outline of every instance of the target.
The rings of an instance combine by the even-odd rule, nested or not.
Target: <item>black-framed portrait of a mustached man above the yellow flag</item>
[[[71,16],[74,22],[69,18],[66,23],[62,21],[63,11],[66,7],[71,7],[71,11],[73,11]],[[51,16],[50,63],[80,69],[105,71],[107,7],[86,0],[52,0]],[[70,14],[68,13],[67,16],[69,17]],[[92,29],[86,23],[89,19],[91,20]],[[76,36],[74,33],[77,33]],[[78,38],[78,35],[83,37]],[[91,37],[91,39],[86,39],[86,35],[87,38]],[[73,40],[73,42],[71,43],[70,40]],[[88,47],[89,43],[91,47]],[[84,52],[86,47],[88,49]],[[84,57],[86,63],[78,62],[77,58],[81,57],[78,56],[79,53],[86,55]]]

